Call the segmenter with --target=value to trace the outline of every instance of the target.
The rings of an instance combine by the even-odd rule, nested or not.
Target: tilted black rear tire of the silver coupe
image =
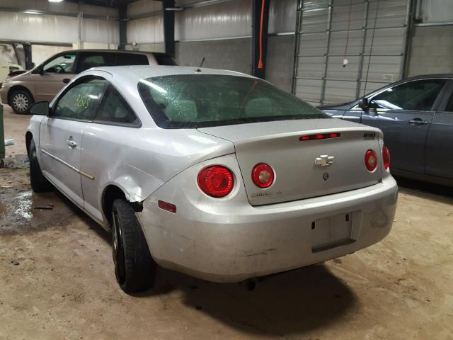
[[[149,290],[154,284],[157,265],[149,254],[147,240],[134,209],[122,199],[113,201],[112,239],[118,285],[125,293]]]

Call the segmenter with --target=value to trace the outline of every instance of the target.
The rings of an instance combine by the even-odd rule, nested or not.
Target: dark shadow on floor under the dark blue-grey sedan
[[[437,202],[453,204],[453,187],[395,177],[400,193],[436,200]]]

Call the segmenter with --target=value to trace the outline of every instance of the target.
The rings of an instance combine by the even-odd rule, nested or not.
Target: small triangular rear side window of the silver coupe
[[[105,92],[101,108],[96,115],[96,121],[103,123],[137,125],[138,119],[134,111],[127,105],[121,94],[113,86]]]

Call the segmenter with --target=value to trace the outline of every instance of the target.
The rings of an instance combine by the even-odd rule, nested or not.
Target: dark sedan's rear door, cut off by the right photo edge
[[[453,179],[453,81],[432,119],[426,139],[426,174]]]

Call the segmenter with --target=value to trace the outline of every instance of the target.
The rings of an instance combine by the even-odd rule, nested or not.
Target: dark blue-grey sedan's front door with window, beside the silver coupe
[[[446,79],[418,79],[369,98],[362,123],[381,129],[391,153],[391,169],[425,174],[425,141],[436,100]]]

